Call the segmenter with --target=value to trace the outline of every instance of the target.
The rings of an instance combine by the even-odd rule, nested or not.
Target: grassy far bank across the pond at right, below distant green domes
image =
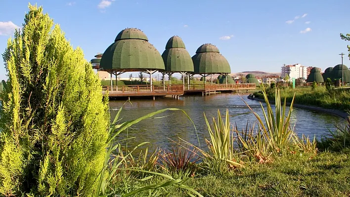
[[[291,102],[295,93],[296,104],[317,106],[326,109],[338,109],[348,112],[350,109],[350,89],[332,89],[328,91],[324,86],[312,89],[311,87],[281,88],[281,98]],[[275,99],[274,89],[266,89],[269,100]],[[255,92],[255,97],[262,98],[262,92]]]

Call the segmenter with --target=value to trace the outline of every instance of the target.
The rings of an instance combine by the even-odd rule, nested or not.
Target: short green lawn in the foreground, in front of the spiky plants
[[[223,176],[197,174],[186,185],[204,197],[349,197],[349,155],[349,149],[316,156],[290,154],[268,164],[249,164]],[[162,182],[154,178],[147,184]],[[134,187],[144,185],[134,183]],[[187,197],[187,192],[173,187],[160,191],[158,196]]]

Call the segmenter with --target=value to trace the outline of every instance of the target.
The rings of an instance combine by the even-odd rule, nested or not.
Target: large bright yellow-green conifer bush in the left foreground
[[[0,196],[92,196],[106,155],[108,103],[80,48],[29,5],[3,54]]]

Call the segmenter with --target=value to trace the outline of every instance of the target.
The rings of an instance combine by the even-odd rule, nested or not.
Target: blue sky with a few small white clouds
[[[326,69],[348,54],[340,33],[350,33],[350,0],[37,0],[61,25],[87,60],[117,34],[141,29],[160,53],[168,39],[180,36],[190,55],[203,43],[219,47],[232,73],[280,72],[282,64]],[[0,53],[11,28],[21,26],[28,0],[1,0]],[[347,55],[344,64],[350,66]],[[0,79],[5,79],[0,61]]]

